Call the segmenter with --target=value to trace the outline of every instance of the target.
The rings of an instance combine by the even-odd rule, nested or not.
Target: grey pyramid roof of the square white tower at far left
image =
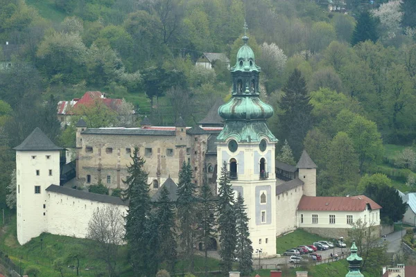
[[[53,143],[39,127],[36,127],[33,132],[14,150],[19,151],[35,151],[35,150],[63,150]]]

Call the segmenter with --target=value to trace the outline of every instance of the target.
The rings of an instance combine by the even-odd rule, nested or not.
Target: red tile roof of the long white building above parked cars
[[[297,209],[300,211],[364,211],[370,204],[372,210],[381,206],[372,199],[358,195],[354,197],[311,197],[302,196]]]

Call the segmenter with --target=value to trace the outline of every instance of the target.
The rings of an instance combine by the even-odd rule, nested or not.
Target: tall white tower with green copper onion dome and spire
[[[255,64],[247,35],[243,42],[231,69],[232,98],[218,109],[225,126],[216,141],[217,164],[227,163],[235,197],[241,193],[245,199],[253,249],[261,248],[265,256],[272,256],[276,254],[277,139],[266,119],[273,109],[259,98],[260,67]]]

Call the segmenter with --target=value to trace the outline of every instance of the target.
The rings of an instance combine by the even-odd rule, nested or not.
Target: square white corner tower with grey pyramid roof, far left
[[[25,244],[47,231],[45,189],[60,184],[62,148],[36,128],[16,150],[17,240]]]

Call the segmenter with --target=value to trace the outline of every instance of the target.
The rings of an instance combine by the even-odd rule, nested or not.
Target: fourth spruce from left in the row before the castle
[[[214,195],[207,182],[204,182],[200,192],[200,218],[198,219],[198,239],[204,242],[205,246],[205,272],[207,272],[208,249],[212,247],[211,240],[216,237],[216,207]]]

